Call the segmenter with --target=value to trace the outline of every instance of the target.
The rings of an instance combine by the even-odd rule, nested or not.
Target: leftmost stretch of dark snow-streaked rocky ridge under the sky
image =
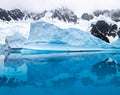
[[[5,10],[0,8],[0,19],[3,21],[18,21],[23,19],[39,20],[45,16],[46,12],[47,11],[42,13],[28,13],[27,11],[21,11],[20,9]]]

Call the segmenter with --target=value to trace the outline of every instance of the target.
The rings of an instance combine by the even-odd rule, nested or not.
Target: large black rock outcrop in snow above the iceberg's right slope
[[[108,36],[116,37],[118,27],[116,24],[108,24],[104,20],[92,24],[91,34],[109,43]]]

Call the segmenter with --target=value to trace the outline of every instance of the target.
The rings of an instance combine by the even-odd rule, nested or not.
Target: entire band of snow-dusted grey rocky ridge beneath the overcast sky
[[[76,23],[79,19],[83,20],[92,20],[99,16],[106,16],[111,18],[115,22],[120,21],[120,9],[114,10],[96,10],[92,13],[83,13],[81,16],[77,16],[73,10],[70,10],[65,7],[52,9],[52,10],[45,10],[43,12],[29,12],[20,9],[13,9],[13,10],[6,10],[0,8],[0,19],[4,21],[11,21],[11,20],[39,20],[46,16],[47,13],[51,13],[49,17],[51,18],[58,18],[59,20],[63,20],[64,22],[74,22]]]

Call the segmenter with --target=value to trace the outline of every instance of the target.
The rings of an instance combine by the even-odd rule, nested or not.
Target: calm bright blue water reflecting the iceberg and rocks
[[[120,95],[120,54],[1,54],[0,95]]]

